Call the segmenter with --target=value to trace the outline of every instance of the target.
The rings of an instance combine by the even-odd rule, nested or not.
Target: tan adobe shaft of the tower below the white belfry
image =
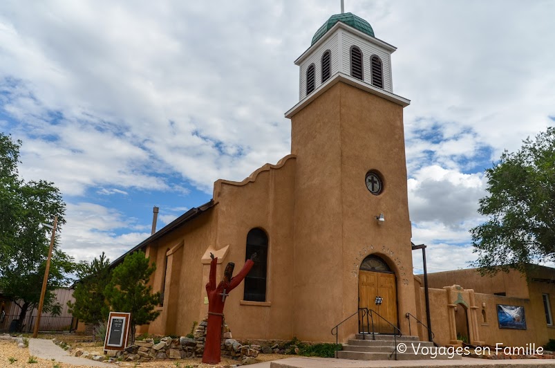
[[[395,270],[399,323],[415,312],[402,107],[342,82],[292,117],[295,181],[294,334],[335,341],[328,328],[358,308],[358,270],[375,253]],[[384,179],[379,196],[365,176]],[[376,216],[384,213],[379,225]],[[335,270],[342,270],[337,277]],[[356,318],[340,340],[357,332]]]

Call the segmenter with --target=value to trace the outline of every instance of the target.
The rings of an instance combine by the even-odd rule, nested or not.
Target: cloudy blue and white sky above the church
[[[339,0],[0,3],[0,131],[67,203],[62,248],[115,259],[290,152],[293,64]],[[555,2],[355,1],[394,46],[413,242],[467,267],[484,169],[555,124]],[[415,254],[415,270],[420,268]]]

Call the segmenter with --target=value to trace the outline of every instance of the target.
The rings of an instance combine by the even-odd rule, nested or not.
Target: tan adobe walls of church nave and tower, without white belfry
[[[365,184],[370,170],[384,181],[378,196]],[[154,291],[164,291],[148,332],[183,334],[205,318],[209,252],[242,265],[253,228],[268,237],[265,302],[243,300],[243,284],[231,293],[234,336],[335,340],[331,327],[358,309],[359,265],[370,254],[394,270],[396,300],[387,302],[408,333],[397,318],[416,313],[402,107],[337,82],[292,117],[291,155],[241,183],[216,181],[209,209],[144,246],[158,265]],[[341,337],[357,328],[355,318]]]

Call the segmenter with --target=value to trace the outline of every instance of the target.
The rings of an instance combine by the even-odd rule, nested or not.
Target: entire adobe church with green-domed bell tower
[[[414,320],[409,326],[406,318],[411,313],[426,323],[408,215],[403,109],[410,101],[393,93],[394,51],[351,13],[333,15],[317,30],[295,61],[299,102],[285,113],[291,154],[241,182],[216,181],[209,203],[129,251],[144,250],[156,262],[151,284],[163,295],[160,316],[141,333],[189,333],[207,315],[210,253],[218,257],[219,282],[227,262],[237,273],[256,252],[254,268],[225,302],[234,338],[335,342],[332,327],[368,307],[383,318],[375,331],[393,333],[395,326],[426,340],[422,326]],[[469,342],[483,343],[482,304],[476,306],[482,299],[452,281],[431,293],[438,342],[460,343],[460,304]],[[496,301],[488,303],[491,321]],[[350,318],[339,328],[339,341],[362,330],[356,316]],[[543,338],[548,335],[555,338],[552,331]]]

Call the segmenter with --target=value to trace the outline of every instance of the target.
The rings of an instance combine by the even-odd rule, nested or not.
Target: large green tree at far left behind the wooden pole
[[[39,304],[50,243],[50,229],[41,223],[53,221],[56,214],[58,226],[65,223],[65,204],[53,183],[19,178],[20,147],[20,140],[0,133],[0,290],[21,308],[19,329],[27,311]],[[44,312],[61,311],[53,291],[68,284],[66,275],[74,266],[55,242]]]

